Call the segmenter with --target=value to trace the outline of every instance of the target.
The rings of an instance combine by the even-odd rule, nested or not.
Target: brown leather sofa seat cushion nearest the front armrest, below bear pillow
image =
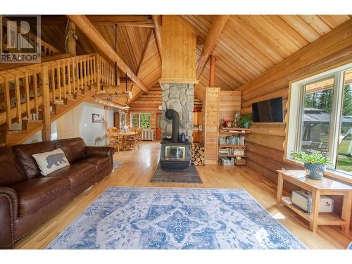
[[[60,199],[69,191],[70,182],[60,177],[37,177],[12,185],[18,194],[19,215],[38,210],[47,203]]]

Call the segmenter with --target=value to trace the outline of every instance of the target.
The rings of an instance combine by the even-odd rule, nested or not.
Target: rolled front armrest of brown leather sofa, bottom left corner
[[[18,195],[8,187],[0,187],[0,249],[13,244],[13,222],[18,218]]]

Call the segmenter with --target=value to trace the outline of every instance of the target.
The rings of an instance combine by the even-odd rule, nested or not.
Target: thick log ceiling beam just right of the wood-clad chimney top
[[[220,34],[224,29],[229,17],[230,15],[214,16],[213,23],[211,23],[208,36],[206,37],[206,42],[204,42],[203,50],[201,51],[201,56],[199,56],[199,59],[197,62],[197,70],[196,70],[197,79],[201,75],[201,72],[204,66],[206,65],[206,62],[208,61],[208,58],[211,52],[213,51],[214,46],[218,41],[218,38],[220,37]]]

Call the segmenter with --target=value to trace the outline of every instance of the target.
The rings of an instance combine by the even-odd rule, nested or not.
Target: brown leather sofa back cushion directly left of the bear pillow
[[[43,153],[48,151],[54,151],[56,149],[54,142],[38,142],[34,144],[23,144],[13,146],[13,151],[15,151],[20,164],[25,171],[28,179],[39,177],[40,169],[37,162],[32,157],[33,154]]]

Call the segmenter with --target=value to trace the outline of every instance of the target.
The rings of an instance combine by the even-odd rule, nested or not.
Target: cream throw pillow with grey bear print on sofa
[[[37,161],[40,171],[44,176],[70,165],[62,149],[33,154],[32,156]]]

